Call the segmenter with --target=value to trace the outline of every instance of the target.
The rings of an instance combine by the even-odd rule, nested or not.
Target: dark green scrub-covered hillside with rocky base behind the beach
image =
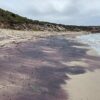
[[[34,12],[33,12],[34,13]],[[0,28],[34,31],[88,31],[100,32],[100,26],[62,25],[28,19],[12,12],[0,9]]]

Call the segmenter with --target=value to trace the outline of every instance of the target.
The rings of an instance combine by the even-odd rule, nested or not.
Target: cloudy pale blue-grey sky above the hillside
[[[100,25],[100,0],[0,0],[0,8],[33,20]]]

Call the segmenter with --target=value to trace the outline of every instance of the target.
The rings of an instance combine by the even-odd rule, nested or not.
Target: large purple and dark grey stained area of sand
[[[99,57],[87,55],[88,48],[77,46],[86,45],[53,36],[1,47],[0,98],[68,100],[70,94],[62,85],[73,79],[69,75],[85,75],[100,68]]]

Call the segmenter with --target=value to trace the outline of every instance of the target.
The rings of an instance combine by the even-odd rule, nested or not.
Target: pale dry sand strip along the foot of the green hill
[[[48,32],[48,31],[18,31],[9,29],[0,29],[0,45],[10,43],[19,43],[27,40],[36,40],[49,36],[68,36],[75,37],[76,35],[87,34],[87,32]]]

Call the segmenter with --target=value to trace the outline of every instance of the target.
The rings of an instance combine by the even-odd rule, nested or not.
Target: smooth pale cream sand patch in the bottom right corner
[[[69,100],[100,100],[100,70],[69,76],[71,79],[62,86]]]

